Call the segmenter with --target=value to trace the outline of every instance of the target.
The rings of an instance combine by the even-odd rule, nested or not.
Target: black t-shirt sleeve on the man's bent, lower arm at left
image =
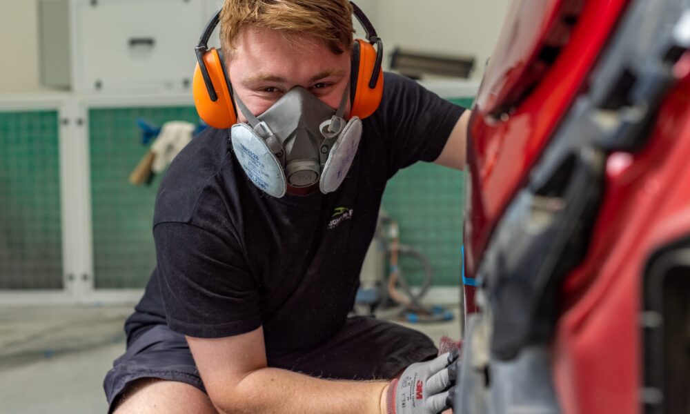
[[[262,325],[258,284],[237,246],[186,223],[157,224],[153,236],[172,331],[214,338]]]

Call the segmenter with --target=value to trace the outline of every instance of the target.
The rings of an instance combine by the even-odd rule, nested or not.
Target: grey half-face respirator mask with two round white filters
[[[233,125],[230,140],[250,181],[273,197],[283,197],[288,184],[304,188],[319,183],[324,194],[337,190],[362,137],[362,121],[343,118],[349,90],[333,110],[297,86],[258,117],[235,96],[249,124]]]

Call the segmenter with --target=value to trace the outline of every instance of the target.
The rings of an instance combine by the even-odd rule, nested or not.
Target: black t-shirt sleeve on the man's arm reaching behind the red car
[[[416,81],[386,73],[382,126],[388,142],[388,177],[417,161],[435,161],[464,108]]]

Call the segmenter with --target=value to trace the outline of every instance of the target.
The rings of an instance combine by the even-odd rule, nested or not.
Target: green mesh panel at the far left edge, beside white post
[[[0,289],[62,288],[56,111],[0,112]]]

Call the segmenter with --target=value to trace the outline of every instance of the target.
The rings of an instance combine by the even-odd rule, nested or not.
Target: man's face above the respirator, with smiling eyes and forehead
[[[275,30],[248,26],[239,35],[227,67],[235,94],[254,115],[262,114],[295,86],[335,110],[350,79],[350,58],[349,50],[335,55],[313,37],[288,40]],[[237,116],[246,122],[239,110]]]

